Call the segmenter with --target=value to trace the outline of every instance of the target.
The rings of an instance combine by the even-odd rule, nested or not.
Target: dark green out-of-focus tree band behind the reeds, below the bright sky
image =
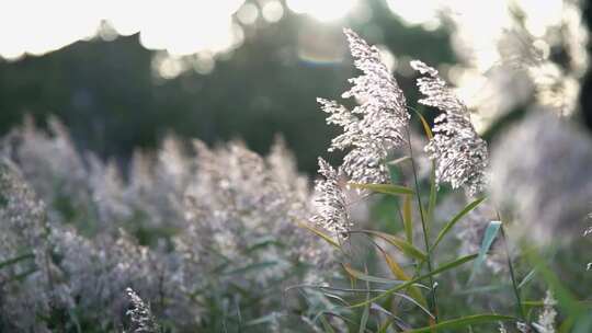
[[[239,3],[232,20],[240,38],[224,51],[171,56],[146,48],[140,33],[124,36],[102,21],[94,37],[38,56],[0,57],[0,135],[25,114],[39,124],[55,114],[80,148],[126,161],[134,148],[152,148],[169,131],[209,143],[241,138],[258,152],[281,134],[311,173],[334,136],[316,97],[338,97],[354,76],[343,26],[390,51],[411,106],[415,89],[405,62],[420,58],[442,70],[464,61],[451,43],[454,23],[410,24],[395,12],[396,1],[358,1],[331,21],[299,14],[289,2]],[[346,2],[332,5],[337,11]],[[589,4],[583,8],[590,21]],[[590,76],[584,81],[581,104],[590,112]]]

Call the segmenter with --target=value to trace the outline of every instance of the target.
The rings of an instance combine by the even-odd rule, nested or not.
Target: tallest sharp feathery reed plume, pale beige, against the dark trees
[[[352,30],[345,28],[344,34],[362,76],[350,79],[353,85],[342,96],[354,97],[360,104],[350,111],[335,101],[318,99],[329,114],[327,123],[343,128],[329,151],[351,149],[341,169],[352,182],[386,183],[389,174],[384,162],[388,151],[406,142],[405,129],[410,118],[406,99],[382,62],[378,48],[369,46]]]

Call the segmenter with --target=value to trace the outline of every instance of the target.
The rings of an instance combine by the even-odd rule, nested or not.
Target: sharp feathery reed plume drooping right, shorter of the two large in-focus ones
[[[425,95],[419,102],[443,112],[434,119],[434,137],[425,146],[436,162],[436,182],[465,187],[474,196],[486,184],[487,143],[473,127],[467,106],[446,87],[437,70],[419,60],[411,61],[411,67],[424,74],[418,79],[420,92]]]

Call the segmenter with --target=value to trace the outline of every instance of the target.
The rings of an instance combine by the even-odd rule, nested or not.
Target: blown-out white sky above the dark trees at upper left
[[[140,33],[149,49],[224,53],[241,42],[234,13],[244,0],[10,1],[0,11],[0,57],[43,55],[96,36],[103,21],[119,35]],[[33,10],[34,9],[34,10]]]

